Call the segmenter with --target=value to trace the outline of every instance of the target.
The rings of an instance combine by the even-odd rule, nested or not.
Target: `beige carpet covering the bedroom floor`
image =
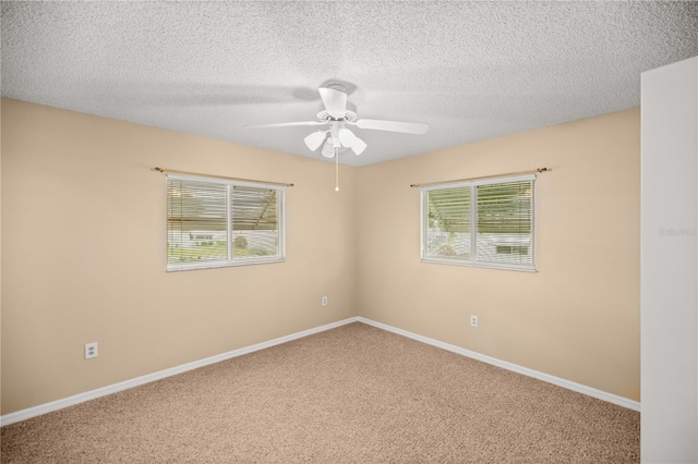
[[[2,463],[637,463],[639,413],[360,322],[0,430]]]

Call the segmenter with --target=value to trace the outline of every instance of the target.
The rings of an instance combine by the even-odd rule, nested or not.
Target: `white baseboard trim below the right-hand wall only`
[[[543,380],[547,383],[553,383],[557,387],[563,387],[563,388],[566,388],[567,390],[576,391],[577,393],[582,393],[588,396],[595,398],[598,400],[613,403],[618,406],[627,407],[628,410],[633,410],[637,412],[640,411],[640,402],[635,400],[629,400],[627,398],[618,396],[616,394],[609,393],[602,390],[597,390],[594,388],[587,387],[581,383],[576,383],[569,380],[562,379],[559,377],[555,377],[549,374],[540,373],[538,370],[529,369],[528,367],[519,366],[506,361],[497,359],[496,357],[488,356],[484,354],[477,353],[474,351],[466,350],[460,346],[456,346],[449,343],[441,342],[438,340],[430,339],[429,337],[408,332],[407,330],[398,329],[396,327],[388,326],[386,323],[376,322],[375,320],[366,319],[364,317],[359,317],[358,321],[368,323],[369,326],[373,326],[378,329],[387,330],[388,332],[397,333],[398,335],[407,337],[409,339],[413,339],[422,343],[430,344],[432,346],[447,350],[453,353],[460,354],[462,356],[471,357],[473,359],[481,361],[483,363],[492,364],[493,366],[502,367],[503,369],[507,369],[517,374],[522,374],[525,376],[533,377],[535,379]]]

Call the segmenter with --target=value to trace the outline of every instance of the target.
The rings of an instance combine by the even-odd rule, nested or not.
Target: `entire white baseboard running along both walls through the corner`
[[[398,329],[393,326],[388,326],[386,323],[376,322],[371,319],[366,319],[364,317],[350,317],[348,319],[342,319],[337,322],[327,323],[325,326],[315,327],[313,329],[303,330],[301,332],[291,333],[290,335],[280,337],[278,339],[269,340],[267,342],[257,343],[254,345],[245,346],[239,350],[233,350],[228,353],[222,353],[216,356],[206,357],[204,359],[195,361],[192,363],[182,364],[180,366],[174,366],[169,369],[158,370],[157,373],[147,374],[145,376],[136,377],[134,379],[124,380],[119,383],[113,383],[111,386],[98,388],[96,390],[91,390],[84,393],[79,393],[72,396],[63,398],[61,400],[51,401],[49,403],[39,404],[37,406],[28,407],[26,410],[21,410],[14,413],[5,414],[0,416],[0,427],[7,426],[10,424],[19,423],[22,420],[29,419],[32,417],[37,417],[43,414],[51,413],[53,411],[62,410],[68,406],[73,406],[75,404],[84,403],[85,401],[94,400],[100,396],[105,396],[107,394],[117,393],[119,391],[128,390],[133,387],[139,387],[144,383],[149,383],[156,380],[160,380],[167,377],[176,376],[178,374],[185,373],[188,370],[196,369],[198,367],[208,366],[209,364],[219,363],[225,359],[230,359],[232,357],[242,356],[243,354],[252,353],[255,351],[264,350],[270,346],[275,346],[281,343],[290,342],[292,340],[298,340],[303,337],[312,335],[313,333],[320,333],[325,330],[335,329],[340,326],[346,326],[351,322],[363,322],[369,326],[376,327],[378,329],[387,330],[388,332],[397,333],[402,337],[407,337],[443,350],[450,351],[453,353],[460,354],[462,356],[471,357],[473,359],[482,361],[483,363],[492,364],[497,367],[502,367],[507,370],[512,370],[518,374],[522,374],[525,376],[534,377],[539,380],[546,381],[549,383],[556,384],[558,387],[566,388],[568,390],[576,391],[578,393],[583,393],[586,395],[606,401],[609,403],[617,404],[618,406],[627,407],[634,411],[640,411],[640,403],[637,401],[628,400],[627,398],[618,396],[612,393],[606,393],[601,390],[593,389],[591,387],[586,387],[580,383],[575,383],[569,380],[561,379],[558,377],[550,376],[547,374],[539,373],[538,370],[529,369],[527,367],[518,366],[513,363],[508,363],[506,361],[501,361],[491,356],[486,356],[484,354],[480,354],[470,350],[462,349],[460,346],[452,345],[449,343],[441,342],[438,340],[430,339],[429,337],[419,335],[417,333],[408,332],[407,330]]]

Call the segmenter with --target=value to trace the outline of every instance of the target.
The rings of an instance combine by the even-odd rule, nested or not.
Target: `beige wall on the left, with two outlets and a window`
[[[294,183],[287,261],[166,273],[155,166]],[[3,99],[2,414],[354,316],[357,170],[335,193],[334,168]]]

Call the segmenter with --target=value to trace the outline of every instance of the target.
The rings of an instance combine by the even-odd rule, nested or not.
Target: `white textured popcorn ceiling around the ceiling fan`
[[[342,83],[363,166],[640,105],[698,56],[698,2],[2,2],[2,96],[324,159],[317,87]]]

